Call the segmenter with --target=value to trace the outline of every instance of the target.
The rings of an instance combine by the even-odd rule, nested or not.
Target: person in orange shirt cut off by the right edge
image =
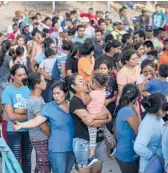
[[[168,39],[164,40],[164,48],[165,48],[165,51],[158,58],[158,69],[161,64],[168,64]]]

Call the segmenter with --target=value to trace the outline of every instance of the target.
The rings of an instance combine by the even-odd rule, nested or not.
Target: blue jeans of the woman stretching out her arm
[[[72,151],[51,152],[49,151],[49,161],[52,173],[70,173],[75,163],[75,156]]]

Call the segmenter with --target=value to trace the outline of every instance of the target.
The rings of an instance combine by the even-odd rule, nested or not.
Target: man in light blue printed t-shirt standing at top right
[[[155,12],[152,14],[152,24],[154,29],[154,36],[157,35],[157,29],[163,28],[165,24],[165,15],[160,9],[160,5],[156,4]]]

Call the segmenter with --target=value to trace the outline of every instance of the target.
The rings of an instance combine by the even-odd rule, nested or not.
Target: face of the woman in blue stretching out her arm
[[[66,93],[64,93],[64,91],[62,91],[59,87],[56,87],[53,89],[53,98],[59,105],[66,100]]]

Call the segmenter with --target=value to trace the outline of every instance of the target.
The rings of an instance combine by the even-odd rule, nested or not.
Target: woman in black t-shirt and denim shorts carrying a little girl
[[[103,109],[101,113],[89,114],[86,106],[82,102],[82,96],[87,90],[84,79],[79,74],[74,74],[69,79],[70,91],[75,95],[71,99],[70,113],[75,126],[75,135],[73,139],[73,151],[76,162],[79,167],[79,173],[100,173],[102,164],[94,164],[88,167],[89,158],[89,132],[87,126],[100,127],[111,121],[111,115],[107,109]],[[97,133],[96,158],[100,161],[107,159],[107,150],[103,140],[101,130]]]

